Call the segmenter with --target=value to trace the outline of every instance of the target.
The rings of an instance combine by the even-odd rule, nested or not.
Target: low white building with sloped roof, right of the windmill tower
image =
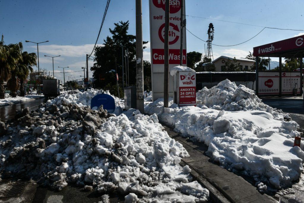
[[[233,58],[227,57],[227,56],[220,56],[219,58],[212,61],[212,63],[215,64],[215,71],[216,72],[223,72],[223,68],[225,68],[225,63],[228,61],[228,59],[232,60]],[[240,63],[240,67],[242,71],[248,71],[250,66],[254,65],[255,61],[246,59],[246,58],[236,58],[237,62]]]

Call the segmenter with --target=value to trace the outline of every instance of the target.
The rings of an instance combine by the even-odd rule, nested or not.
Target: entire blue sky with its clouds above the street
[[[36,44],[26,43],[25,40],[33,42],[49,40],[39,45],[40,68],[46,68],[52,72],[52,58],[44,57],[44,55],[61,55],[54,58],[54,69],[55,76],[63,79],[63,74],[56,74],[62,71],[62,68],[57,68],[58,66],[69,66],[70,68],[65,69],[66,72],[81,71],[81,67],[84,67],[85,54],[92,52],[106,2],[106,0],[0,0],[0,34],[4,35],[5,44],[21,41],[24,44],[24,51],[28,52],[37,52],[37,47]],[[142,0],[143,40],[145,41],[150,41],[148,2],[148,0]],[[213,44],[239,44],[259,33],[264,26],[304,29],[302,3],[300,0],[186,0],[186,15],[189,15],[186,17],[186,28],[199,38],[207,40],[208,25],[213,23],[215,30]],[[114,23],[127,20],[130,22],[129,33],[135,35],[135,0],[111,0],[98,44],[102,44],[103,39],[110,35],[109,28],[114,28]],[[304,34],[304,31],[265,29],[257,37],[238,46],[212,46],[213,56],[214,59],[221,55],[246,57],[253,47],[291,38],[300,33]],[[203,41],[192,36],[188,31],[186,37],[187,52],[205,52]],[[144,50],[144,59],[150,61],[149,45]],[[278,61],[278,58],[272,60]],[[89,66],[92,65],[93,61],[89,61]],[[66,75],[80,79],[83,72]]]

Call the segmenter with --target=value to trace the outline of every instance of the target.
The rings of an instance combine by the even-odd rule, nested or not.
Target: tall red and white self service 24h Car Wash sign
[[[169,68],[180,65],[181,12],[185,15],[185,0],[168,0],[169,14]],[[183,8],[181,7],[183,1]],[[164,95],[164,34],[165,0],[150,0],[150,53],[152,75],[152,98],[156,100]],[[181,10],[182,9],[182,10]],[[186,27],[183,29],[182,64],[186,66]],[[173,78],[169,75],[169,96],[173,97]]]

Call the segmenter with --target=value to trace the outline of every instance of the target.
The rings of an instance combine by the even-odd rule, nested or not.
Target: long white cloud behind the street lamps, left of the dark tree
[[[102,44],[96,44],[96,46],[104,46]],[[32,46],[36,48],[36,46]],[[79,46],[72,46],[72,45],[57,45],[57,44],[50,44],[50,45],[40,45],[39,51],[51,56],[67,56],[67,57],[84,57],[86,54],[90,54],[93,50],[94,44],[84,44]],[[60,58],[60,57],[58,57]]]

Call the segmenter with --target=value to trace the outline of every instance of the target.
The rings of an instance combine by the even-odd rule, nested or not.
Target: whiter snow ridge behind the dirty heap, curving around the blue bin
[[[64,93],[58,97],[56,97],[53,100],[48,100],[47,101],[47,105],[51,105],[51,104],[56,104],[58,106],[61,105],[62,101],[65,101],[65,103],[69,104],[77,104],[78,107],[82,107],[82,106],[91,106],[91,99],[97,95],[97,94],[108,94],[111,95],[109,90],[104,91],[103,89],[88,89],[85,92],[80,92],[79,90],[74,90],[71,93]],[[112,96],[112,95],[111,95]],[[124,108],[124,101],[119,99],[118,97],[114,97],[115,99],[115,106],[120,106],[122,108]]]

